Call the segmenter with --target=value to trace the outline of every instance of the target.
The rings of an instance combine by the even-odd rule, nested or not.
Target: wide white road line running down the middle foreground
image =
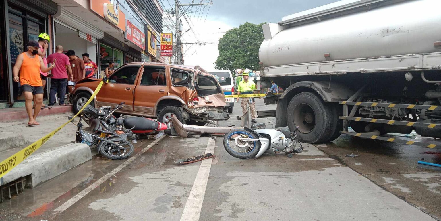
[[[214,153],[215,145],[216,145],[216,141],[213,140],[212,138],[209,138],[205,153],[209,153],[209,152]],[[188,196],[187,203],[185,203],[184,211],[181,216],[181,221],[199,220],[212,161],[213,158],[202,160],[198,174],[196,175],[196,179],[194,179],[190,196]]]

